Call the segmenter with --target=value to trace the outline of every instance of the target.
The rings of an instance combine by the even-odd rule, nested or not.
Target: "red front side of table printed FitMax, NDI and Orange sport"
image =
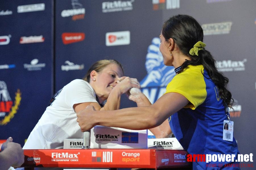
[[[153,150],[138,149],[44,149],[24,150],[22,166],[43,167],[152,167]]]

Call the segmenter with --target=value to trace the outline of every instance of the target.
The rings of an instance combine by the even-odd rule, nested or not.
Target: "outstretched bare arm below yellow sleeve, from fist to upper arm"
[[[133,130],[150,129],[161,125],[170,115],[182,109],[188,102],[188,99],[181,94],[167,93],[150,106],[101,112],[87,108],[77,114],[77,121],[82,131],[96,125]]]

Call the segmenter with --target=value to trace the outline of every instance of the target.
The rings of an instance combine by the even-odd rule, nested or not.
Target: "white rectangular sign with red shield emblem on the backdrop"
[[[130,31],[118,31],[106,33],[106,46],[130,44]]]

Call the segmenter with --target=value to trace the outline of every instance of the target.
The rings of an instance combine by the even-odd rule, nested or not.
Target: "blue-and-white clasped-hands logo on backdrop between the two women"
[[[153,104],[166,92],[167,84],[176,75],[174,67],[163,63],[163,56],[159,50],[160,39],[153,38],[146,55],[145,67],[147,75],[141,80],[141,92]]]

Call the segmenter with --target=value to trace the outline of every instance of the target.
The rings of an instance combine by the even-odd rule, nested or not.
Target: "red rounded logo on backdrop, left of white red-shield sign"
[[[63,44],[71,44],[74,42],[84,41],[85,33],[62,33]]]

